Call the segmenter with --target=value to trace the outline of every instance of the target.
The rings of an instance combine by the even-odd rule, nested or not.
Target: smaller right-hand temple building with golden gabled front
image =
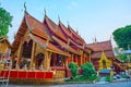
[[[91,54],[91,61],[94,64],[96,71],[99,70],[114,70],[116,73],[124,71],[123,63],[117,59],[112,51],[111,40],[93,42],[86,45],[93,49]]]

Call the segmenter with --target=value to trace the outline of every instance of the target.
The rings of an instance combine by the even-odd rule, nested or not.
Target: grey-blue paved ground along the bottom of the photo
[[[61,85],[9,85],[9,87],[131,87],[131,80],[129,82],[117,82],[106,84],[61,84]]]

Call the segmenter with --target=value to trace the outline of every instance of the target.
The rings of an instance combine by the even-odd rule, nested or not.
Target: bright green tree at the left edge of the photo
[[[7,37],[9,26],[12,26],[11,21],[12,16],[10,13],[7,12],[3,8],[0,8],[0,37]]]

